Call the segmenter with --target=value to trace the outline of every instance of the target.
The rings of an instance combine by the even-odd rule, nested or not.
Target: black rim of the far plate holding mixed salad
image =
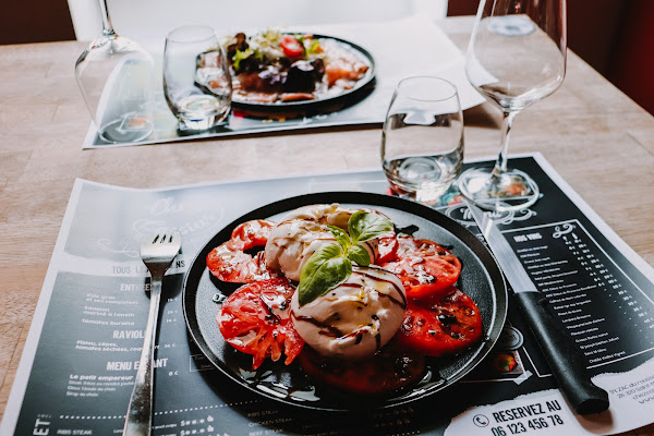
[[[338,36],[316,34],[313,32],[289,31],[289,32],[282,32],[282,34],[284,34],[284,35],[312,34],[314,37],[317,37],[317,38],[334,39],[340,44],[344,44],[344,45],[349,46],[350,48],[353,48],[354,50],[356,50],[361,56],[363,56],[363,58],[368,62],[368,64],[371,66],[370,72],[366,72],[366,77],[360,78],[356,82],[356,85],[352,89],[348,89],[343,94],[339,94],[339,95],[331,96],[328,98],[322,98],[322,99],[317,99],[317,100],[302,100],[302,101],[290,101],[290,102],[271,102],[271,104],[240,101],[240,100],[234,100],[232,98],[233,107],[235,107],[238,109],[243,109],[243,110],[256,109],[256,110],[268,110],[268,111],[306,109],[306,108],[311,108],[311,107],[315,107],[315,106],[334,104],[341,99],[349,98],[352,95],[356,94],[358,92],[364,89],[366,86],[368,86],[375,82],[376,73],[377,73],[375,58],[367,49],[363,48],[362,46],[358,45],[356,43],[352,43],[348,39],[343,39]]]

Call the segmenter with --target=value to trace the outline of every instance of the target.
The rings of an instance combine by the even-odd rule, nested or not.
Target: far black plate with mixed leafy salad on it
[[[267,29],[235,34],[223,47],[237,109],[337,110],[374,86],[372,55],[344,39]]]

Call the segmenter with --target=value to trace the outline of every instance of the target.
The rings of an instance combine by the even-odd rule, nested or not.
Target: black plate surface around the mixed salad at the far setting
[[[296,35],[301,34],[301,32],[293,32],[292,34]],[[375,84],[375,60],[373,59],[373,56],[363,47],[346,39],[316,34],[314,34],[314,38],[332,39],[368,65],[368,70],[366,71],[365,75],[356,82],[356,85],[352,89],[348,89],[344,93],[335,96],[318,98],[315,100],[264,104],[232,99],[232,106],[255,116],[259,113],[266,114],[271,112],[288,112],[290,116],[313,114],[339,110],[367,96],[370,92],[372,92],[372,88]]]

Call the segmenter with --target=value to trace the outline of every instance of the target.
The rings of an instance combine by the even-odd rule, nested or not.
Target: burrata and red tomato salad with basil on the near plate
[[[244,283],[217,323],[253,368],[283,355],[335,388],[385,393],[420,379],[425,356],[482,336],[477,306],[456,287],[459,258],[375,210],[320,204],[247,221],[206,262],[219,280]]]

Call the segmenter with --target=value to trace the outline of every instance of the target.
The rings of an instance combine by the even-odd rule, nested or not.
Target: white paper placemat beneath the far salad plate
[[[258,29],[261,32],[261,29]],[[140,141],[104,141],[94,124],[84,140],[85,148],[107,148],[124,145],[167,143],[173,141],[225,137],[253,133],[288,132],[305,129],[379,124],[384,122],[388,102],[397,82],[409,75],[438,75],[455,83],[462,109],[484,101],[464,74],[464,57],[452,41],[429,20],[410,16],[387,23],[358,25],[331,24],[284,28],[284,32],[311,32],[338,38],[355,48],[371,62],[370,73],[358,87],[329,101],[299,101],[290,106],[295,113],[283,118],[286,106],[275,105],[264,116],[247,117],[250,109],[266,105],[241,105],[225,123],[205,131],[181,131],[164,96],[159,76],[154,77],[154,132]],[[223,35],[220,35],[221,37]],[[425,52],[431,53],[424,56]],[[157,56],[157,55],[155,55]],[[162,53],[158,55],[162,58]],[[339,110],[334,110],[334,105]],[[270,106],[270,105],[267,105]],[[279,108],[281,106],[281,108]],[[301,111],[298,111],[300,108]],[[240,110],[239,110],[240,109]],[[306,114],[302,113],[306,112]]]

